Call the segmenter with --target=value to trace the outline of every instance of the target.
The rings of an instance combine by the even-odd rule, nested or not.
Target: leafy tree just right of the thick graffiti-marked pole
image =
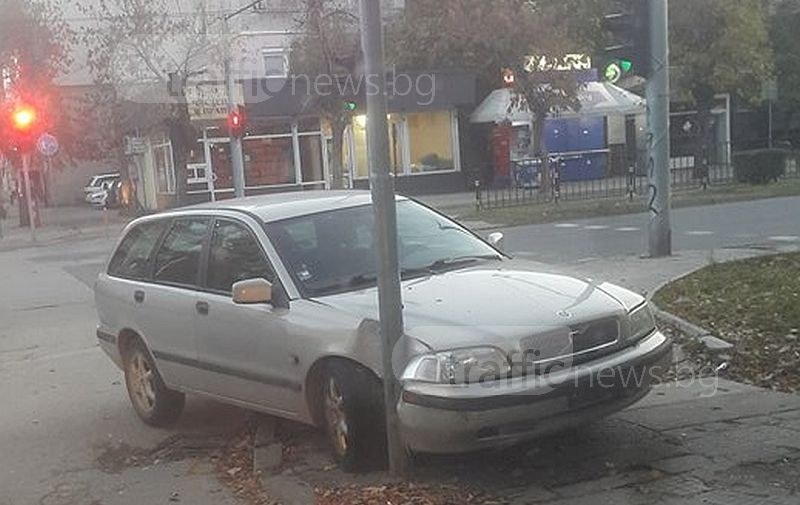
[[[695,173],[708,172],[717,93],[755,102],[773,69],[763,0],[672,0],[671,65],[682,98],[697,108]]]

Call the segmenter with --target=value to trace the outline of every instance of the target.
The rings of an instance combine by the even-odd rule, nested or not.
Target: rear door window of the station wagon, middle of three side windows
[[[210,221],[208,218],[175,220],[156,254],[154,280],[182,286],[197,285]]]

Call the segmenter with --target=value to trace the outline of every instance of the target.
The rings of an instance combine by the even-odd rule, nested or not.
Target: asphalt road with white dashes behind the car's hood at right
[[[547,263],[642,255],[647,214],[501,229],[506,248]],[[800,245],[800,197],[676,209],[673,251]]]

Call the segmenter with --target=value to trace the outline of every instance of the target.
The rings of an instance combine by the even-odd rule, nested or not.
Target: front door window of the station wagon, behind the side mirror
[[[217,220],[208,256],[208,288],[230,293],[234,283],[256,278],[275,280],[255,236],[242,224]]]

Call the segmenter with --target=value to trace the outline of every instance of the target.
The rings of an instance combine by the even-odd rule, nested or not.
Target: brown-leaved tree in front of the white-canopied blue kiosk
[[[584,25],[566,20],[573,19],[570,5],[588,8],[594,2],[409,0],[390,28],[389,59],[403,69],[474,73],[481,95],[500,87],[502,70],[511,69],[514,102],[534,120],[531,154],[546,162],[544,121],[556,110],[579,107],[579,84],[572,72],[531,65],[529,56],[559,57],[586,47],[586,37],[575,33]]]

